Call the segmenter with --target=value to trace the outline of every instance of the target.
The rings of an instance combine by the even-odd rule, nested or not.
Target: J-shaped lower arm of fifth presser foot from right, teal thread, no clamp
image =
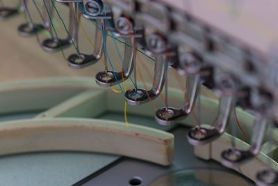
[[[131,105],[139,105],[154,100],[161,93],[165,79],[165,63],[167,63],[166,54],[156,56],[154,65],[154,82],[151,90],[142,88],[131,88],[124,93],[124,98]]]

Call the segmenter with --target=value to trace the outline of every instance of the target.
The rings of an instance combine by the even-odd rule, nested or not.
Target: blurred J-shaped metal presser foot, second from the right
[[[238,164],[246,162],[254,158],[261,149],[263,135],[265,134],[265,127],[267,119],[262,116],[256,116],[252,131],[251,146],[248,150],[240,150],[238,148],[230,148],[222,152],[222,164],[228,167],[237,167]]]

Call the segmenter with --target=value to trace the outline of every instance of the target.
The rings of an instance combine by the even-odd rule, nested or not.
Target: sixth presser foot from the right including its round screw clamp
[[[129,78],[136,59],[136,49],[133,49],[132,46],[136,46],[138,40],[144,36],[142,26],[133,26],[131,19],[124,16],[117,17],[115,20],[115,29],[112,29],[112,32],[114,36],[124,38],[124,42],[126,42],[127,45],[124,45],[124,63],[122,72],[106,70],[97,73],[96,82],[99,86],[103,87],[113,86],[118,82],[123,82],[123,80]]]

